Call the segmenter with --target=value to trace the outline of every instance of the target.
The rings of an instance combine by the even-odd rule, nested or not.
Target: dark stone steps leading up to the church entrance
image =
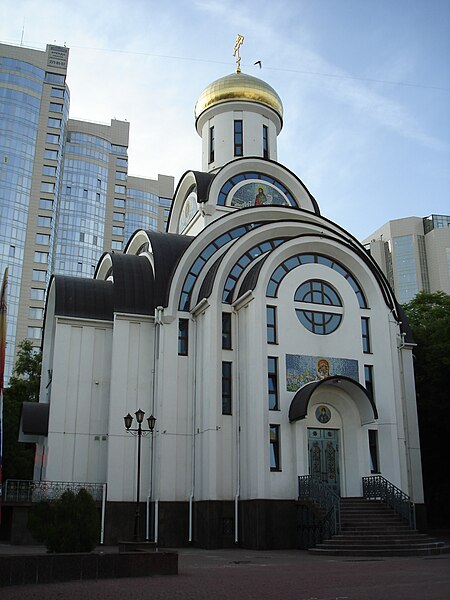
[[[364,498],[341,498],[341,531],[310,549],[332,556],[430,556],[450,546],[412,530],[385,504]]]

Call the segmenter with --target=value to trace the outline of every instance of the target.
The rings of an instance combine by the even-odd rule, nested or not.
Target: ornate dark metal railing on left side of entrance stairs
[[[311,475],[299,475],[298,499],[312,502],[324,513],[324,533],[336,535],[341,529],[341,499],[328,485]]]

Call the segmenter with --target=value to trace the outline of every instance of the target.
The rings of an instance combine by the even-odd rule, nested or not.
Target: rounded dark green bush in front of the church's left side
[[[67,490],[56,502],[34,506],[28,528],[49,552],[91,552],[100,532],[95,501],[85,489]]]

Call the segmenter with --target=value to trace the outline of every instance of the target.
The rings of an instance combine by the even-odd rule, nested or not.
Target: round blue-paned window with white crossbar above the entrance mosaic
[[[328,335],[341,324],[342,301],[329,283],[320,279],[305,281],[297,288],[294,300],[298,320],[311,333]]]

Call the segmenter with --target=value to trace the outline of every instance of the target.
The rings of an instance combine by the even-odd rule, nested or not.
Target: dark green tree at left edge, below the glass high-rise
[[[35,444],[18,441],[23,402],[39,399],[41,353],[29,340],[19,344],[9,387],[3,395],[3,479],[32,479]]]

